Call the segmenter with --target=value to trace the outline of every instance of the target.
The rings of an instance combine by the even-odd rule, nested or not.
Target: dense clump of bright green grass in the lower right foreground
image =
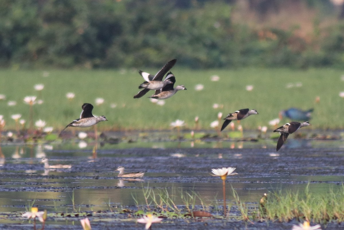
[[[288,222],[292,219],[309,220],[317,223],[344,221],[344,185],[326,194],[312,193],[307,185],[304,194],[299,191],[277,191],[269,193],[264,205],[260,206],[258,216],[265,220]]]

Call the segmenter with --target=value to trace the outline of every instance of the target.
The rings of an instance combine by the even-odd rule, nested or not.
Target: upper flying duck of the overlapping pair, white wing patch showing
[[[139,86],[139,89],[143,89],[138,92],[134,98],[142,97],[143,95],[147,94],[149,90],[160,90],[167,84],[171,84],[172,82],[167,79],[167,76],[164,81],[162,81],[162,78],[174,66],[176,61],[177,59],[173,59],[166,63],[166,65],[164,65],[159,72],[155,74],[155,76],[140,70],[139,73],[145,81]]]

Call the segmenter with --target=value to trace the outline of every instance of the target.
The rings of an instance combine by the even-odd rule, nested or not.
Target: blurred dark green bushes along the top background
[[[278,11],[283,2],[247,1],[260,15]],[[333,12],[328,0],[304,2]],[[343,22],[320,28],[315,20],[308,37],[297,35],[298,25],[256,29],[233,20],[234,0],[0,0],[0,5],[2,67],[159,67],[178,58],[191,68],[306,68],[344,61]]]

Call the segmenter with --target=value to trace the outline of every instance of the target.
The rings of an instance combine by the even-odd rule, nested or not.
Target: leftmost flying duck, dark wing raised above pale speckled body
[[[63,130],[67,129],[67,127],[69,126],[86,128],[94,124],[97,124],[100,121],[107,121],[106,117],[104,116],[100,116],[100,117],[93,116],[92,114],[93,105],[89,103],[84,103],[84,105],[81,108],[83,109],[83,111],[80,114],[80,118],[69,123],[66,126],[66,128],[64,128]]]

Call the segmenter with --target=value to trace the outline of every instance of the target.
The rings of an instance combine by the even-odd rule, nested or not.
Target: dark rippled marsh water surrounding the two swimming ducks
[[[18,218],[34,202],[50,213],[93,213],[93,229],[137,229],[130,215],[107,210],[136,210],[146,204],[142,188],[166,188],[183,205],[181,192],[195,191],[205,204],[222,206],[222,183],[210,175],[212,168],[236,167],[238,175],[227,177],[227,205],[233,205],[231,186],[240,200],[255,206],[262,194],[279,189],[327,193],[339,189],[344,175],[344,144],[339,140],[288,139],[276,152],[276,140],[218,141],[216,139],[137,141],[127,138],[117,144],[104,142],[92,159],[93,142],[80,149],[78,140],[41,144],[2,144],[0,162],[0,228],[30,229],[32,223]],[[128,141],[129,140],[129,141]],[[142,141],[143,140],[143,141]],[[192,147],[193,146],[193,147]],[[42,157],[50,164],[72,164],[72,169],[44,170]],[[140,180],[125,180],[114,172],[145,171]],[[134,198],[135,199],[134,199]],[[74,202],[74,207],[73,207]],[[196,204],[200,205],[200,204]],[[98,212],[98,213],[97,213]],[[111,214],[109,214],[111,213]],[[237,215],[235,205],[231,215]],[[214,212],[221,215],[221,212]],[[49,217],[45,229],[80,229],[81,217]],[[155,229],[291,229],[297,223],[245,223],[219,219],[166,219]],[[340,224],[323,229],[344,229]],[[326,227],[326,228],[325,228]]]

